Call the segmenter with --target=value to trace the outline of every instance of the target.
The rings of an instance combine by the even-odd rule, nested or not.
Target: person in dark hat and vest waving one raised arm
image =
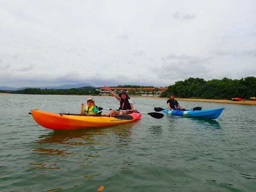
[[[109,113],[106,113],[104,115],[111,115],[111,116],[125,115],[125,114],[129,113],[130,111],[134,111],[133,103],[125,91],[122,91],[117,96],[115,93],[113,93],[113,91],[108,86],[104,86],[104,88],[105,88],[105,90],[108,90],[109,93],[111,93],[114,97],[116,97],[116,99],[120,102],[119,110],[112,109]]]

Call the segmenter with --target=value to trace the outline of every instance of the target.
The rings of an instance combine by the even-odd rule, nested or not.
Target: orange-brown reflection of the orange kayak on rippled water
[[[43,134],[38,140],[34,141],[35,146],[32,148],[32,154],[48,156],[47,161],[31,162],[29,163],[29,169],[40,169],[44,170],[41,173],[47,173],[46,170],[49,169],[66,170],[70,163],[82,168],[93,166],[94,162],[102,159],[102,157],[113,160],[113,157],[108,155],[110,152],[116,151],[117,157],[119,157],[119,154],[127,152],[127,147],[132,142],[132,127],[136,123],[70,131],[53,130],[48,134]],[[99,147],[99,145],[102,146]],[[103,148],[104,150],[102,150]],[[63,163],[63,160],[69,163]],[[120,161],[115,165],[123,169],[128,169],[128,166],[134,163],[134,160],[129,158]],[[75,179],[86,179],[95,176],[97,175],[86,175]]]

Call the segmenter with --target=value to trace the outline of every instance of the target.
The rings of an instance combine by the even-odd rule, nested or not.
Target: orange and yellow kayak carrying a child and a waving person
[[[35,121],[49,129],[69,130],[79,128],[106,127],[140,119],[140,113],[130,113],[118,116],[84,116],[79,114],[50,113],[33,109],[32,114]]]

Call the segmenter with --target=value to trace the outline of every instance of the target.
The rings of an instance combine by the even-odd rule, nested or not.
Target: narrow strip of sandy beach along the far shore
[[[0,93],[4,95],[11,95],[13,93]],[[84,96],[91,96],[91,95],[84,95]],[[106,95],[108,96],[108,95]],[[159,97],[159,96],[138,96],[138,95],[131,95],[131,98],[146,98],[146,99],[169,99],[168,97]],[[240,105],[256,105],[256,100],[248,100],[245,99],[244,101],[232,101],[227,99],[189,99],[189,98],[175,98],[178,101],[192,101],[192,102],[215,102],[215,103],[229,103],[229,104],[240,104]]]

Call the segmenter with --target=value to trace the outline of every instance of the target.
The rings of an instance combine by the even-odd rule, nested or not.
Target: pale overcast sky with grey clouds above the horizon
[[[0,0],[0,86],[256,76],[256,0]]]

